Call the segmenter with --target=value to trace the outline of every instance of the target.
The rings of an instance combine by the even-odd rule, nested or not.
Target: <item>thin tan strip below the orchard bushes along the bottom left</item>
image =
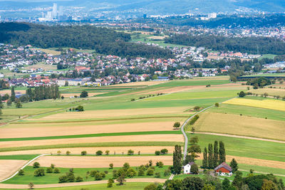
[[[164,183],[167,179],[157,179],[157,178],[138,178],[138,179],[126,179],[128,182],[147,182],[147,183]],[[42,184],[35,185],[33,188],[53,188],[53,187],[63,187],[63,186],[83,186],[83,185],[95,185],[95,184],[107,184],[108,180],[102,181],[86,181],[78,183],[66,183],[66,184]],[[27,189],[28,184],[0,184],[1,189]]]

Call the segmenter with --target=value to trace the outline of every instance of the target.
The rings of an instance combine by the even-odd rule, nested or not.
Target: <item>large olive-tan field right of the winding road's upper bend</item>
[[[238,134],[249,137],[285,140],[285,122],[255,117],[204,112],[195,124],[200,132]]]

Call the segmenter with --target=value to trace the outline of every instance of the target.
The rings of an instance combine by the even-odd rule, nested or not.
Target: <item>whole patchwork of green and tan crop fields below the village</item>
[[[206,88],[206,85],[210,86]],[[88,91],[89,97],[69,98],[80,95],[83,90]],[[22,108],[16,108],[14,104],[9,107],[5,105],[2,122],[7,123],[0,127],[0,162],[9,161],[6,163],[11,169],[10,173],[0,173],[0,176],[5,178],[11,175],[39,154],[51,155],[40,157],[34,162],[39,162],[44,169],[55,164],[62,172],[36,178],[30,164],[25,168],[25,176],[14,176],[5,184],[0,184],[0,188],[15,189],[16,185],[20,187],[30,181],[41,184],[40,187],[56,187],[58,175],[62,175],[71,167],[84,178],[84,182],[74,183],[72,186],[99,187],[99,184],[92,184],[97,181],[85,179],[88,169],[109,171],[110,163],[113,163],[114,167],[122,167],[125,162],[136,168],[150,159],[153,163],[162,161],[165,164],[163,170],[161,169],[163,172],[168,165],[172,165],[175,144],[183,146],[185,142],[182,132],[174,130],[173,124],[182,124],[194,115],[195,106],[204,108],[224,101],[227,102],[219,107],[199,113],[199,120],[192,125],[197,132],[194,135],[199,137],[198,144],[201,149],[210,142],[222,140],[226,146],[227,162],[234,157],[240,164],[260,168],[269,167],[264,164],[268,163],[272,169],[269,171],[282,174],[285,170],[285,143],[282,143],[285,142],[284,101],[264,97],[229,100],[236,97],[241,90],[246,91],[247,86],[230,83],[227,76],[222,76],[147,81],[106,87],[62,87],[61,94],[66,97],[63,100],[26,102]],[[84,107],[83,112],[69,111],[78,105]],[[13,120],[8,121],[10,117]],[[228,137],[228,134],[244,137]],[[187,135],[192,137],[193,134]],[[264,140],[250,139],[252,137]],[[133,155],[128,155],[130,149],[134,151]],[[155,151],[161,149],[167,149],[168,154],[156,156]],[[103,155],[95,155],[98,150],[103,151]],[[107,150],[110,155],[105,154]],[[83,151],[87,152],[85,156],[81,156]],[[66,152],[71,152],[71,155],[66,155]],[[198,164],[200,159],[202,155],[197,159]],[[127,179],[128,183],[124,189],[131,186],[131,180],[142,180],[139,177],[155,180],[154,176],[135,176],[134,179]],[[156,180],[163,182],[162,179],[167,179],[167,176],[162,174],[162,177]],[[152,181],[133,182],[139,184]],[[9,184],[14,186],[9,187]]]

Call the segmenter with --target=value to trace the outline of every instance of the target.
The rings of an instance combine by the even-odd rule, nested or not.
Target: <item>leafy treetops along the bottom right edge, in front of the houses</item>
[[[173,179],[165,181],[165,190],[283,190],[285,188],[282,179],[277,179],[273,174],[260,174],[255,175],[252,172],[247,176],[242,176],[242,172],[237,171],[234,180],[218,179],[207,173],[204,178],[198,176],[187,176],[185,179]],[[145,190],[162,190],[161,184],[149,184],[145,186]]]

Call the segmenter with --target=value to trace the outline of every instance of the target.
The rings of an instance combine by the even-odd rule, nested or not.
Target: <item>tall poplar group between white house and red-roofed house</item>
[[[204,169],[214,169],[222,162],[226,162],[226,150],[224,148],[224,142],[220,141],[219,146],[218,142],[214,142],[214,149],[213,144],[209,143],[208,149],[204,147],[203,152],[203,160],[202,160],[202,167]]]

